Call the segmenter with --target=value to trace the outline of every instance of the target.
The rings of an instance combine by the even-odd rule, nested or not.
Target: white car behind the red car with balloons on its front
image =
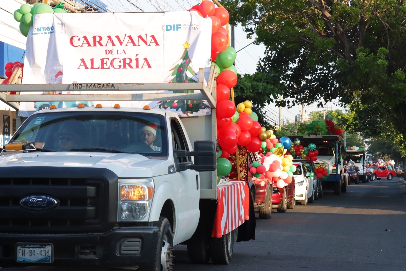
[[[293,173],[295,178],[295,199],[300,201],[301,205],[307,205],[308,202],[314,202],[314,195],[318,193],[317,178],[310,177],[310,172],[302,163],[293,163],[296,171]]]

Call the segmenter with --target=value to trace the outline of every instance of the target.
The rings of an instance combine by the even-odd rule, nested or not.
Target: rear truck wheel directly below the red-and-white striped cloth
[[[229,264],[234,249],[234,231],[221,238],[211,237],[210,255],[214,264]]]

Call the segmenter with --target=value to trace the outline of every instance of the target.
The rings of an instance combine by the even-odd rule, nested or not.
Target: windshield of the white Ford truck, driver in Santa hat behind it
[[[51,151],[168,155],[164,116],[136,112],[55,112],[32,115],[13,142],[36,142]]]

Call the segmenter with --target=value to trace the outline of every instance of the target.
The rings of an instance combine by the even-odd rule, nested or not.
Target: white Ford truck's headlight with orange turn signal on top
[[[155,191],[153,179],[119,179],[118,221],[144,221]]]

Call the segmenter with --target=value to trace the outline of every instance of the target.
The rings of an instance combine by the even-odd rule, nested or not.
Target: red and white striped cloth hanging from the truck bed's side
[[[218,202],[212,236],[221,238],[249,219],[249,190],[245,181],[231,181],[231,186],[218,186]]]

